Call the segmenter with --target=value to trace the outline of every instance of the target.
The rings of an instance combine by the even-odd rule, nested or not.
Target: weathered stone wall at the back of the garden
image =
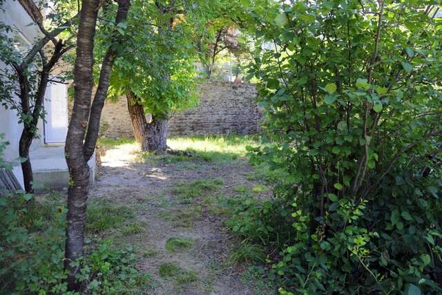
[[[169,120],[169,135],[253,134],[259,131],[260,111],[253,84],[210,81],[199,86],[195,108],[176,113]],[[133,136],[126,97],[106,102],[102,135]]]

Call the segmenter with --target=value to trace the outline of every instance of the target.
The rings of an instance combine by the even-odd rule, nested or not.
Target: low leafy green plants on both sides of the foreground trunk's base
[[[68,294],[64,272],[66,208],[58,196],[30,200],[30,194],[0,198],[0,294]],[[133,266],[132,249],[110,241],[90,244],[82,258],[84,294],[133,294],[151,286]]]

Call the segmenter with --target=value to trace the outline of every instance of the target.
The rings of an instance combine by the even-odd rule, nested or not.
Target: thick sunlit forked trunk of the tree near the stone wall
[[[126,95],[127,107],[131,116],[133,134],[135,140],[140,144],[142,151],[165,151],[167,120],[156,119],[152,116],[150,123],[146,120],[144,108],[139,103],[140,99],[135,93],[131,92]]]

